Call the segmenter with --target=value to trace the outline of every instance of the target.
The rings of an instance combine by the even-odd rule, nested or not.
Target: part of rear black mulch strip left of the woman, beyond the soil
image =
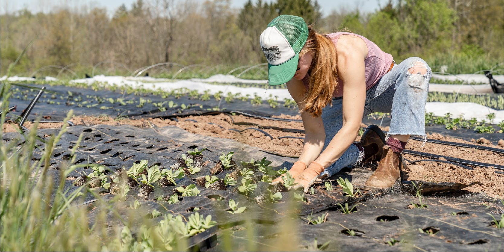
[[[33,87],[42,87],[41,85],[31,85]],[[17,87],[15,87],[17,88]],[[21,91],[30,90],[27,88],[19,87]],[[146,117],[159,117],[159,116],[169,116],[184,114],[187,112],[194,113],[196,111],[212,111],[213,108],[219,105],[220,100],[216,100],[213,96],[210,96],[210,100],[201,101],[199,99],[190,99],[189,97],[174,97],[169,96],[162,98],[159,95],[135,95],[126,94],[119,91],[114,92],[110,90],[99,90],[94,91],[92,89],[82,89],[66,86],[46,86],[44,94],[38,100],[36,106],[33,108],[32,113],[28,116],[29,120],[37,119],[42,116],[42,120],[62,120],[67,115],[68,111],[74,110],[75,115],[109,115],[113,118],[115,117],[128,117],[131,119],[135,118],[146,118]],[[50,91],[57,92],[56,94],[50,93]],[[69,93],[70,92],[70,93]],[[14,94],[10,100],[10,106],[17,106],[16,111],[13,114],[20,115],[22,110],[25,109],[31,100],[38,93],[38,90],[32,89],[24,95]],[[51,98],[54,94],[55,98]],[[69,95],[72,94],[72,95]],[[87,97],[91,98],[87,98]],[[95,100],[95,96],[102,98],[103,102],[98,104]],[[63,99],[61,99],[61,97]],[[108,98],[113,98],[114,103],[110,103]],[[117,101],[117,98],[123,99],[123,102],[135,101],[135,103],[126,103],[121,105]],[[145,103],[142,107],[137,107],[139,105],[140,98],[150,99],[151,103]],[[49,101],[48,101],[49,100]],[[177,106],[169,107],[168,101],[173,101]],[[87,102],[82,104],[83,102]],[[153,105],[153,103],[166,102],[163,107],[165,111],[160,111],[160,109]],[[250,100],[241,101],[234,100],[230,103],[226,102],[224,98],[220,101],[221,110],[249,110],[252,108],[254,111],[262,112],[265,114],[290,114],[295,115],[297,109],[288,108],[283,106],[283,102],[279,101],[279,105],[276,108],[270,107],[270,105],[263,101],[263,104],[252,106]],[[59,103],[59,104],[58,104]],[[81,104],[81,106],[79,106]],[[92,106],[97,104],[96,106]],[[182,109],[181,105],[190,105],[189,108]],[[91,106],[91,107],[87,107]],[[202,107],[200,107],[202,106]],[[12,116],[12,115],[11,115]]]

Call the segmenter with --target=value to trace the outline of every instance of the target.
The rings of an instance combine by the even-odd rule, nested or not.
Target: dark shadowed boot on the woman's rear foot
[[[360,165],[371,161],[380,161],[382,159],[383,147],[385,146],[385,135],[378,126],[371,124],[356,144],[364,148],[364,158]]]

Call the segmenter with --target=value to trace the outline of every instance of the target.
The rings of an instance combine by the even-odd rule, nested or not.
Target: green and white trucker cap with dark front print
[[[273,19],[259,37],[268,60],[268,84],[284,84],[296,73],[299,51],[308,38],[308,26],[301,17],[281,15]]]

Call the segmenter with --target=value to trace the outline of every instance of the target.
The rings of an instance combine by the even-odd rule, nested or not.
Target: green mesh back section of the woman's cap
[[[308,26],[301,17],[281,15],[273,19],[268,26],[277,27],[296,54],[301,51],[308,39]]]

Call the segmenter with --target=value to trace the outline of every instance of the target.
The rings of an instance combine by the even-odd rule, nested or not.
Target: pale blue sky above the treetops
[[[197,0],[204,2],[205,0]],[[136,0],[0,0],[0,12],[15,12],[21,9],[28,9],[31,12],[49,12],[51,7],[57,5],[69,6],[82,6],[89,5],[92,7],[107,8],[109,15],[112,15],[115,10],[122,4],[128,9]],[[231,7],[241,8],[247,0],[230,0]],[[256,3],[257,0],[253,0]],[[271,2],[271,0],[265,0]],[[319,5],[324,16],[331,13],[332,10],[345,8],[347,10],[355,10],[358,8],[362,13],[373,12],[379,8],[380,5],[384,6],[388,0],[318,0]]]

